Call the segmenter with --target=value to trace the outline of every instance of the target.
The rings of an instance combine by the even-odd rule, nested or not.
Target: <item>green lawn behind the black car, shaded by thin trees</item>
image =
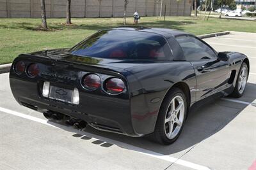
[[[72,18],[74,25],[64,25],[65,19],[47,19],[51,31],[38,31],[40,18],[0,18],[0,64],[12,62],[20,53],[74,46],[100,29],[122,25],[123,18]],[[132,18],[127,18],[128,25]],[[142,17],[140,24],[147,27],[179,29],[195,35],[219,31],[256,32],[256,22],[194,17]]]

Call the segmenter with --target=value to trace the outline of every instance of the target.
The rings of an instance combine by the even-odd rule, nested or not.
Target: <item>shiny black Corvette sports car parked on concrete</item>
[[[249,67],[246,55],[218,53],[186,32],[119,27],[72,48],[19,55],[10,85],[20,104],[47,118],[169,144],[197,101],[241,97]]]

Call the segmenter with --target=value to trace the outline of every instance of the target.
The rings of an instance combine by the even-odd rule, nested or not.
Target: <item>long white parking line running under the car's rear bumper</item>
[[[56,124],[54,122],[49,122],[49,121],[41,119],[41,118],[36,118],[36,117],[32,117],[30,115],[26,115],[24,113],[19,113],[17,111],[8,110],[6,108],[1,108],[1,107],[0,107],[0,111],[3,111],[4,113],[9,113],[11,115],[15,115],[17,117],[26,118],[28,120],[32,120],[32,121],[38,122],[40,124],[49,125],[51,127],[55,127],[55,128],[58,128],[58,129],[68,129],[68,131],[75,132],[77,134],[83,134],[84,136],[88,136],[88,137],[93,138],[93,139],[97,139],[97,140],[100,140],[100,141],[105,141],[107,143],[111,143],[113,145],[120,146],[120,148],[126,148],[127,150],[133,150],[134,152],[138,152],[138,153],[141,153],[143,155],[148,155],[150,157],[155,157],[157,159],[166,160],[166,161],[172,162],[174,164],[179,164],[180,166],[189,167],[189,168],[198,169],[198,170],[211,170],[211,169],[209,169],[209,167],[206,167],[206,166],[201,166],[199,164],[194,164],[192,162],[188,162],[186,160],[181,160],[181,159],[177,159],[177,158],[174,158],[174,157],[170,157],[168,155],[163,155],[161,153],[152,152],[151,150],[147,150],[147,149],[140,148],[140,147],[137,147],[137,146],[129,145],[127,143],[122,143],[120,141],[115,141],[113,139],[104,138],[104,137],[98,136],[96,134],[91,134],[91,133],[84,132],[84,131],[78,131],[78,130],[73,129],[71,127],[67,127],[65,125]]]

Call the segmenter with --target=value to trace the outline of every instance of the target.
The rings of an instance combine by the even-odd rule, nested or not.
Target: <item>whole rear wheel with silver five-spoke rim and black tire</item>
[[[152,139],[168,145],[179,138],[187,113],[187,99],[184,92],[173,87],[161,105]]]

